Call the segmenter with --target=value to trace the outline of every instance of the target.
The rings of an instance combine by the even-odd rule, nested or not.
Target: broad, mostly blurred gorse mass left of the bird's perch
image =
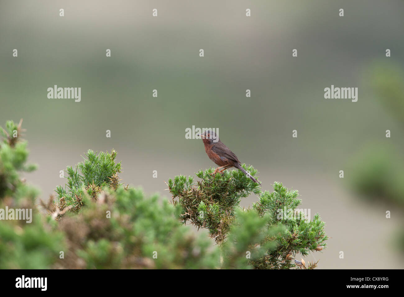
[[[12,122],[7,126],[12,135],[17,126]],[[41,203],[49,213],[44,215],[34,204],[36,191],[19,176],[27,168],[26,143],[6,136],[0,150],[0,182],[6,185],[0,209],[33,211],[32,223],[0,221],[0,269],[220,266],[220,253],[212,249],[210,240],[178,222],[178,208],[121,186],[115,151],[98,155],[88,151],[83,162],[69,167],[65,188],[58,187],[63,195],[56,203],[52,198]]]

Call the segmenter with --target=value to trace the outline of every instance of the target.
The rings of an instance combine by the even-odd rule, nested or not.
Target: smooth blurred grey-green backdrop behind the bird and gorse
[[[185,128],[219,128],[263,190],[281,181],[320,213],[331,238],[309,261],[402,268],[404,190],[383,188],[404,176],[403,16],[402,1],[0,1],[0,122],[24,119],[44,199],[60,170],[112,148],[122,181],[169,198],[169,177],[214,165]],[[81,102],[48,99],[55,84],[81,87]],[[358,102],[324,99],[332,84],[358,87]]]

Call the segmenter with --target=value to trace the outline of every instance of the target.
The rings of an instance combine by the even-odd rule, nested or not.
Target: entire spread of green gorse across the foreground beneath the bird
[[[279,220],[277,210],[297,207],[297,191],[280,183],[262,193],[240,171],[168,181],[173,202],[145,198],[123,186],[117,153],[87,152],[84,161],[68,166],[65,185],[56,198],[35,204],[36,191],[25,184],[25,141],[17,136],[21,122],[6,124],[0,147],[0,209],[32,209],[32,223],[0,220],[0,268],[314,268],[316,263],[292,262],[297,253],[322,249],[324,222]],[[17,131],[17,135],[12,133]],[[13,137],[13,138],[11,138]],[[17,139],[15,139],[17,138]],[[246,167],[252,175],[257,171]],[[255,193],[252,209],[239,206]],[[48,214],[45,214],[47,211]],[[42,212],[42,213],[41,213]],[[181,224],[208,228],[211,238]],[[298,266],[295,266],[295,263]]]

